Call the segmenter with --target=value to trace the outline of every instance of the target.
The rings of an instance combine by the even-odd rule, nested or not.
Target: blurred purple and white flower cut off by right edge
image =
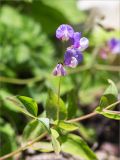
[[[108,47],[111,53],[120,54],[120,40],[112,38],[110,41],[108,41]]]

